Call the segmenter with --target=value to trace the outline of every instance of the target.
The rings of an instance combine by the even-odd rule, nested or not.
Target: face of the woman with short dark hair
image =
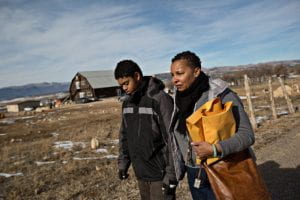
[[[172,83],[182,92],[188,89],[200,75],[200,68],[192,68],[186,60],[176,60],[171,64]]]

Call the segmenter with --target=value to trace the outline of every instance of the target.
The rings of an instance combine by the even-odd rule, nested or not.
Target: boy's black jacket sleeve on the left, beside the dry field
[[[119,132],[119,157],[118,157],[119,170],[124,170],[127,172],[130,164],[131,164],[131,160],[130,160],[128,144],[127,144],[125,121],[124,121],[124,117],[122,117],[122,122],[121,122],[120,132]]]

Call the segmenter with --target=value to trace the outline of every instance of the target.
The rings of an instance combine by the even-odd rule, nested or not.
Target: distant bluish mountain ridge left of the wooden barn
[[[0,101],[10,100],[18,97],[38,96],[66,92],[69,90],[70,83],[36,83],[23,86],[12,86],[0,88]]]

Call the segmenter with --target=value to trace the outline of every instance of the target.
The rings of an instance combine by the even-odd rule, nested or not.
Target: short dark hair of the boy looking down
[[[115,69],[115,79],[123,78],[123,77],[134,77],[134,73],[138,72],[141,76],[143,76],[142,70],[132,60],[122,60],[120,61]]]

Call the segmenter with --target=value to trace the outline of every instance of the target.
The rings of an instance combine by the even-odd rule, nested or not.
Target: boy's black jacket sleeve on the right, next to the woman
[[[165,158],[166,158],[166,174],[163,182],[165,184],[169,184],[171,182],[176,182],[176,175],[174,170],[174,162],[172,157],[171,145],[170,145],[170,135],[169,135],[169,127],[172,117],[172,112],[174,108],[173,99],[171,96],[166,94],[165,92],[161,92],[158,97],[159,102],[159,113],[161,120],[160,121],[160,131],[164,142],[166,144]]]

